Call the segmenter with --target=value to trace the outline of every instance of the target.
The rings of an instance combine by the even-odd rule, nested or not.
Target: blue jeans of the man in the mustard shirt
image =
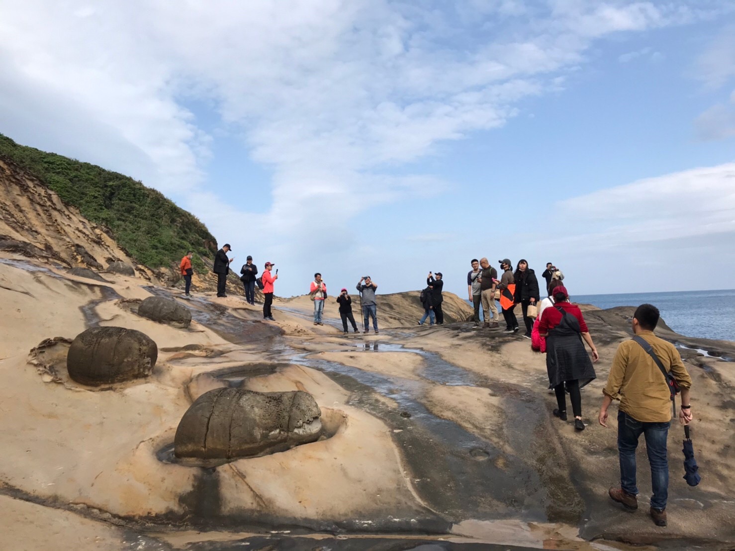
[[[637,495],[636,448],[641,434],[645,436],[645,448],[650,463],[650,482],[653,497],[650,506],[659,510],[666,508],[669,497],[669,462],[666,456],[666,441],[671,422],[649,423],[634,419],[625,411],[617,412],[617,450],[620,453],[620,486],[628,494]]]

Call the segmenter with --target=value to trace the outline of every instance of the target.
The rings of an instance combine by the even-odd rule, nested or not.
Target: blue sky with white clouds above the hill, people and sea
[[[0,0],[0,132],[160,190],[276,295],[465,298],[482,256],[735,288],[731,0]]]

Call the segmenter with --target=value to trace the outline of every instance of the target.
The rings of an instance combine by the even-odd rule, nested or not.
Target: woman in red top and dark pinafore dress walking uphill
[[[574,428],[584,431],[582,422],[582,398],[579,389],[597,377],[592,361],[589,361],[584,342],[592,351],[592,359],[598,361],[595,343],[589,336],[587,323],[579,306],[569,302],[566,287],[553,289],[553,307],[543,311],[539,323],[539,335],[546,337],[546,371],[549,376],[549,387],[556,394],[558,409],[553,411],[554,417],[567,420],[566,387],[572,402]]]

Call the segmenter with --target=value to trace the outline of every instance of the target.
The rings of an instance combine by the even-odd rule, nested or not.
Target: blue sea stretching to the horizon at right
[[[661,311],[661,318],[678,334],[735,341],[735,289],[573,295],[571,299],[602,309],[653,304]]]

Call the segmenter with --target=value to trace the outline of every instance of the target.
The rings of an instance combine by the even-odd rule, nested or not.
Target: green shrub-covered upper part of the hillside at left
[[[3,134],[0,159],[28,170],[89,220],[110,228],[140,264],[159,268],[178,263],[187,249],[209,257],[216,251],[215,237],[195,216],[129,176],[18,145]]]

